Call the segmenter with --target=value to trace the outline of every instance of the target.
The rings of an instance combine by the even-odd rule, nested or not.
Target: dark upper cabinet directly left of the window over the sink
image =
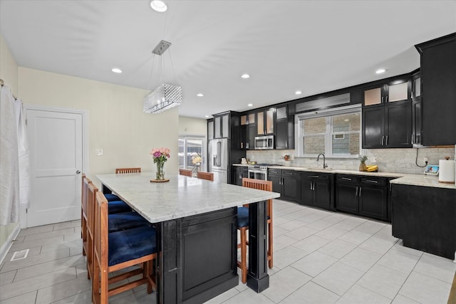
[[[294,149],[294,108],[284,105],[276,108],[276,149]]]

